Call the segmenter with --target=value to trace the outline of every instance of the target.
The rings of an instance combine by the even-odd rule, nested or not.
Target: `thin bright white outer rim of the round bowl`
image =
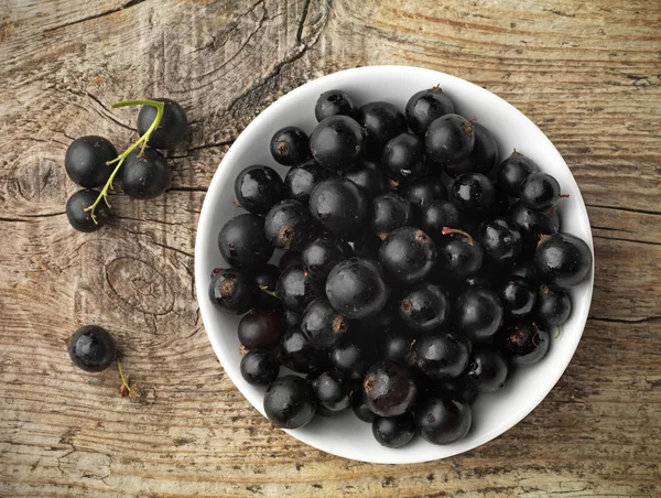
[[[594,274],[595,274],[594,243],[593,243],[592,227],[589,224],[587,209],[586,209],[585,203],[583,201],[583,195],[581,194],[581,191],[578,188],[578,185],[576,184],[576,180],[574,178],[574,175],[571,172],[571,169],[568,167],[568,165],[566,164],[566,162],[564,161],[564,159],[562,158],[562,155],[560,154],[557,149],[555,148],[555,145],[553,145],[551,140],[523,112],[521,112],[519,109],[517,109],[514,106],[512,106],[507,100],[499,97],[498,95],[496,95],[496,94],[487,90],[486,88],[483,88],[474,83],[470,83],[470,82],[459,78],[457,76],[453,76],[453,75],[449,75],[446,73],[442,73],[438,71],[434,71],[434,69],[427,69],[427,68],[423,68],[423,67],[401,66],[401,65],[364,66],[364,67],[343,69],[343,71],[339,71],[336,73],[330,73],[330,74],[321,76],[318,78],[312,79],[312,80],[292,89],[284,96],[280,97],[279,99],[277,99],[275,101],[270,104],[264,110],[262,110],[243,129],[243,131],[241,131],[241,133],[237,137],[236,141],[232,143],[232,145],[229,148],[229,150],[226,152],[225,156],[220,161],[218,167],[216,169],[216,172],[214,173],[214,177],[212,178],[212,182],[209,184],[207,193],[205,195],[205,199],[204,199],[202,210],[199,214],[199,219],[198,219],[198,224],[197,224],[197,234],[196,234],[196,238],[195,238],[194,274],[195,274],[196,299],[197,299],[199,312],[201,312],[201,315],[203,318],[203,324],[205,325],[205,331],[207,332],[207,337],[209,338],[209,342],[212,343],[214,353],[216,354],[218,361],[223,366],[221,358],[225,356],[224,346],[223,346],[223,344],[220,344],[220,340],[218,339],[218,337],[216,337],[214,335],[214,333],[210,332],[210,328],[207,326],[207,324],[209,323],[209,318],[207,318],[206,316],[209,313],[214,312],[214,308],[213,308],[212,304],[208,302],[208,300],[206,299],[207,294],[208,294],[208,292],[207,292],[208,275],[204,273],[204,270],[202,269],[202,263],[199,263],[199,261],[205,257],[204,248],[206,248],[208,246],[209,237],[213,237],[213,238],[216,237],[215,235],[210,234],[209,230],[205,231],[205,230],[201,229],[201,227],[213,225],[210,223],[212,221],[210,218],[214,213],[214,209],[210,206],[215,202],[213,196],[215,193],[219,192],[220,188],[223,188],[224,186],[226,186],[228,184],[234,185],[234,180],[231,182],[226,181],[226,177],[229,175],[229,171],[230,171],[230,167],[228,167],[228,165],[236,160],[235,156],[239,153],[237,151],[239,151],[243,141],[249,140],[251,130],[256,129],[258,127],[257,123],[259,123],[261,121],[270,120],[271,115],[275,113],[278,111],[279,107],[283,106],[284,104],[286,104],[291,100],[295,100],[300,94],[306,91],[312,86],[327,84],[328,88],[330,88],[333,85],[333,80],[344,79],[347,76],[355,76],[355,77],[359,78],[361,75],[367,74],[367,73],[375,73],[375,74],[383,73],[383,76],[386,76],[388,73],[390,73],[392,71],[409,72],[409,73],[411,73],[412,77],[414,77],[415,74],[419,74],[419,75],[424,74],[425,76],[436,76],[436,77],[441,77],[445,80],[453,80],[456,84],[467,86],[468,88],[470,88],[472,91],[488,94],[487,96],[489,98],[496,98],[501,104],[505,104],[506,106],[510,107],[514,113],[519,115],[519,117],[522,118],[527,122],[528,127],[531,127],[531,129],[533,129],[534,131],[537,131],[539,133],[540,140],[544,141],[546,143],[546,145],[550,145],[551,149],[553,151],[555,151],[555,153],[557,154],[556,161],[561,165],[566,167],[566,170],[568,171],[570,176],[574,183],[575,192],[576,192],[576,194],[574,194],[574,196],[577,196],[576,199],[579,203],[579,206],[582,207],[582,214],[585,217],[585,225],[587,227],[587,234],[585,237],[583,237],[583,239],[588,245],[590,252],[593,255],[593,264],[590,268],[590,273],[588,275],[588,279],[586,280],[586,283],[588,283],[588,285],[586,285],[585,290],[584,290],[586,305],[582,308],[582,313],[579,316],[579,325],[578,324],[576,325],[577,332],[575,333],[574,336],[571,336],[571,338],[573,338],[572,343],[568,345],[571,348],[571,354],[567,355],[566,358],[563,359],[563,361],[561,364],[562,368],[560,368],[561,365],[559,364],[557,368],[555,368],[553,370],[555,372],[553,378],[548,379],[546,382],[544,383],[544,389],[537,390],[534,392],[534,396],[531,396],[529,399],[527,399],[527,401],[522,405],[519,407],[519,409],[517,410],[517,412],[513,416],[507,418],[501,423],[495,425],[488,433],[484,434],[481,437],[477,437],[476,440],[474,440],[469,446],[459,448],[456,452],[453,452],[453,453],[451,453],[448,455],[444,455],[444,456],[419,457],[419,458],[409,458],[409,459],[399,459],[399,458],[390,458],[390,457],[389,458],[370,458],[370,457],[365,457],[364,455],[356,456],[350,453],[345,453],[345,452],[328,448],[328,447],[319,447],[316,444],[314,444],[313,442],[311,442],[308,440],[308,437],[306,437],[305,435],[302,435],[299,431],[283,429],[284,432],[296,437],[299,441],[301,441],[305,444],[308,444],[317,450],[321,450],[325,453],[333,454],[335,456],[340,456],[344,458],[359,461],[359,462],[378,463],[378,464],[414,464],[414,463],[424,463],[424,462],[432,462],[432,461],[436,461],[436,459],[443,459],[443,458],[447,458],[447,457],[458,455],[458,454],[465,453],[467,451],[474,450],[474,448],[481,446],[483,444],[505,434],[508,430],[510,430],[511,427],[517,425],[521,420],[523,420],[525,416],[528,416],[544,400],[544,398],[551,392],[551,390],[554,388],[554,386],[557,383],[560,378],[565,372],[568,364],[571,362],[572,358],[574,357],[574,355],[576,353],[578,343],[581,340],[581,337],[583,336],[583,332],[584,332],[585,325],[587,323],[587,315],[589,313],[589,307],[592,304],[592,296],[593,296],[593,291],[594,291]],[[583,225],[583,223],[582,223],[582,225]],[[232,353],[236,353],[236,351],[232,351]],[[263,407],[259,403],[256,403],[251,399],[250,396],[248,396],[246,392],[243,392],[238,387],[237,380],[238,380],[238,377],[240,377],[240,372],[238,370],[234,371],[232,369],[226,369],[224,366],[223,366],[223,369],[227,374],[227,376],[230,378],[230,380],[234,382],[235,387],[237,387],[237,390],[239,390],[239,392],[243,396],[243,398],[246,398],[262,415],[266,416]],[[546,386],[548,386],[548,389],[546,389]]]

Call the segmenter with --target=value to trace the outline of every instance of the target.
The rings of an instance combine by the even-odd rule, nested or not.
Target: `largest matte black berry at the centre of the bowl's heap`
[[[355,320],[378,313],[388,302],[390,289],[381,266],[372,260],[350,258],[336,264],[326,280],[326,296],[344,316]]]

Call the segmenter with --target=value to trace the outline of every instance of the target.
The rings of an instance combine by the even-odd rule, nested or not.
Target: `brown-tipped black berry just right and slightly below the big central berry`
[[[404,323],[413,331],[432,331],[447,320],[449,300],[438,285],[422,282],[404,293],[398,308]]]

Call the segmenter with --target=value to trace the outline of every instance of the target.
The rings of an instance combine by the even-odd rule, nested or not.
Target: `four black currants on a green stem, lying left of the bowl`
[[[186,113],[174,100],[127,100],[112,107],[142,105],[138,115],[140,138],[122,154],[102,137],[80,137],[66,150],[64,166],[69,178],[83,187],[66,203],[66,216],[79,231],[95,231],[110,218],[108,191],[116,176],[123,192],[148,199],[170,187],[172,172],[158,149],[173,149],[186,133]],[[102,187],[101,191],[96,188]]]

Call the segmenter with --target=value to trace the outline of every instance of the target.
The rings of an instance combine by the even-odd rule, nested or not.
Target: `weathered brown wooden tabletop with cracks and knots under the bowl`
[[[658,0],[0,0],[0,496],[660,496]],[[218,365],[193,282],[216,166],[269,102],[337,69],[408,64],[527,113],[573,170],[595,295],[560,383],[517,427],[446,461],[378,466],[274,430]],[[173,188],[67,224],[67,144],[126,147],[169,96],[191,132]],[[65,340],[108,327],[142,387],[85,375]]]

